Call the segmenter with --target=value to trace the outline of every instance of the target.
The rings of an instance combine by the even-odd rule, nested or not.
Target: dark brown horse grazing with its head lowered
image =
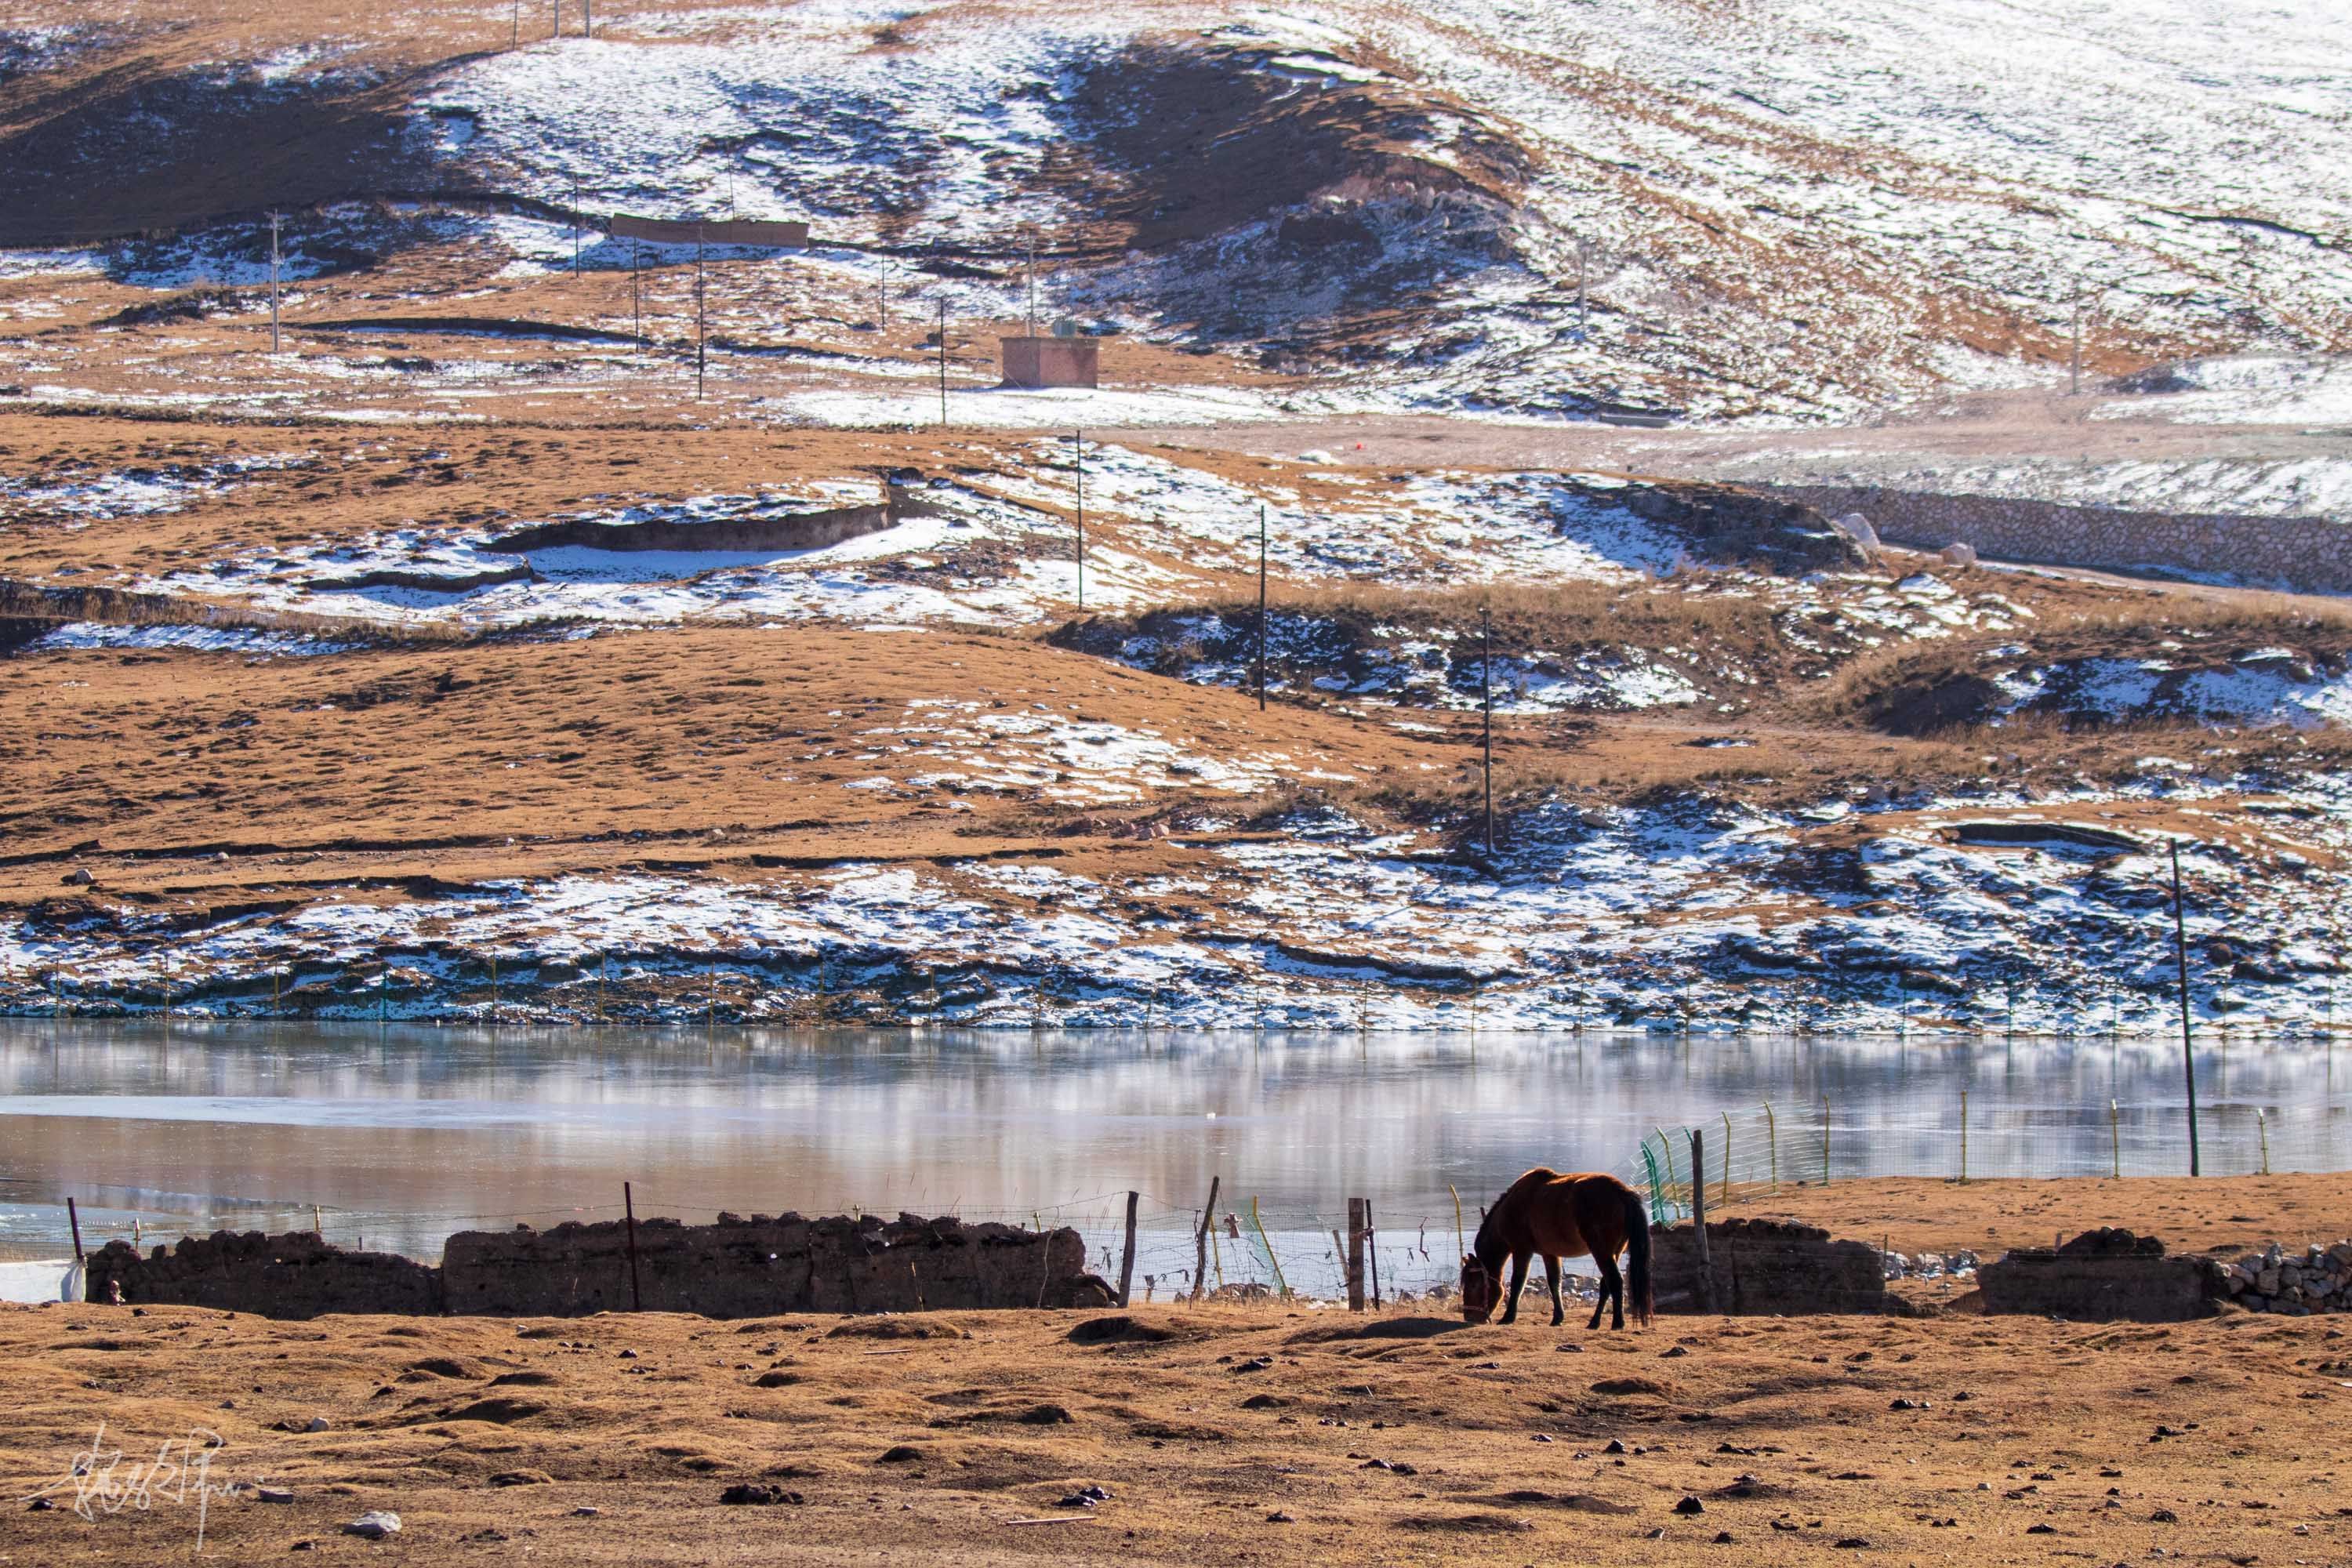
[[[1602,1307],[1616,1305],[1611,1328],[1625,1326],[1625,1284],[1618,1274],[1618,1251],[1630,1253],[1632,1314],[1649,1326],[1649,1208],[1642,1194],[1613,1175],[1562,1175],[1536,1166],[1494,1201],[1477,1227],[1477,1241],[1463,1255],[1463,1321],[1484,1324],[1503,1298],[1503,1258],[1510,1258],[1510,1295],[1503,1321],[1519,1321],[1519,1291],[1526,1288],[1526,1260],[1541,1255],[1552,1288],[1552,1328],[1566,1312],[1559,1307],[1559,1260],[1592,1255],[1602,1265],[1602,1295],[1592,1302],[1592,1321],[1602,1326]]]

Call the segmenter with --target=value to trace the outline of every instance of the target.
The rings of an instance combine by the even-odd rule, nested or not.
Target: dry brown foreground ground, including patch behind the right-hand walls
[[[2340,1213],[2343,1178],[2328,1180]],[[2213,1180],[2190,1208],[2286,1237],[2303,1211],[2281,1197],[2284,1185]],[[2161,1229],[2183,1192],[1957,1194],[1987,1199],[2020,1222],[2086,1208]],[[1860,1182],[1830,1201],[1872,1213]],[[1087,1328],[1103,1316],[268,1324],[7,1307],[0,1396],[16,1415],[0,1476],[9,1497],[49,1488],[54,1507],[0,1514],[0,1556],[179,1561],[195,1542],[193,1493],[172,1500],[158,1483],[151,1507],[106,1514],[96,1488],[120,1500],[132,1467],[188,1432],[221,1436],[212,1486],[292,1493],[214,1497],[207,1552],[223,1561],[301,1542],[421,1563],[513,1552],[2340,1563],[2352,1552],[2336,1462],[2352,1359],[2326,1316],[1663,1316],[1590,1333],[1581,1316],[1470,1328],[1414,1305],[1369,1319],[1160,1305]],[[313,1420],[325,1425],[310,1432]],[[71,1465],[101,1422],[99,1448],[125,1458],[87,1479],[96,1519],[82,1521]],[[729,1486],[786,1500],[729,1507]],[[1089,1486],[1108,1500],[1061,1507]],[[400,1535],[386,1547],[339,1535],[365,1509],[400,1514]]]

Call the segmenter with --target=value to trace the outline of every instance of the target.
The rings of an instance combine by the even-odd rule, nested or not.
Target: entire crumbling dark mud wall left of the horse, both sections
[[[219,1307],[270,1319],[327,1312],[586,1316],[590,1312],[924,1312],[1108,1307],[1075,1229],[1033,1232],[880,1215],[804,1220],[720,1215],[717,1225],[642,1220],[630,1291],[628,1229],[602,1225],[459,1232],[430,1267],[348,1253],[308,1232],[183,1237],[141,1255],[108,1241],[89,1255],[87,1300]]]

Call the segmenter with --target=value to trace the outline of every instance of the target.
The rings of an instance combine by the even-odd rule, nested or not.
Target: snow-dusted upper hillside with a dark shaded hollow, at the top
[[[1308,360],[1345,339],[1369,404],[1851,416],[2060,374],[2077,292],[2093,367],[2343,348],[2352,40],[2328,12],[619,12],[456,66],[416,108],[485,183],[588,209],[1000,261],[1035,226],[1051,308]],[[1200,61],[1232,101],[1176,160],[1136,115]],[[1235,200],[1263,169],[1230,148],[1268,136],[1336,179]],[[1134,219],[1167,207],[1232,221]],[[1120,244],[1138,230],[1162,242]]]

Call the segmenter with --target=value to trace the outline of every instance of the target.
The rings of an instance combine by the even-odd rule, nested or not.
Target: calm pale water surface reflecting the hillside
[[[2197,1070],[2209,1171],[2253,1168],[2258,1107],[2277,1168],[2352,1164],[2328,1046],[2216,1044]],[[73,1194],[99,1237],[134,1213],[167,1237],[308,1227],[315,1204],[332,1239],[435,1255],[452,1229],[616,1215],[623,1180],[640,1215],[913,1208],[1101,1239],[1129,1187],[1174,1234],[1221,1175],[1284,1234],[1352,1194],[1392,1232],[1435,1229],[1449,1185],[1479,1201],[1531,1164],[1630,1173],[1651,1128],[1766,1098],[1792,1140],[1828,1100],[1842,1175],[1943,1175],[1962,1091],[1971,1168],[1997,1171],[2006,1138],[2046,1175],[2107,1168],[2110,1100],[2169,1140],[2185,1095],[2178,1051],[2145,1039],[16,1023],[0,1241],[59,1239]]]

